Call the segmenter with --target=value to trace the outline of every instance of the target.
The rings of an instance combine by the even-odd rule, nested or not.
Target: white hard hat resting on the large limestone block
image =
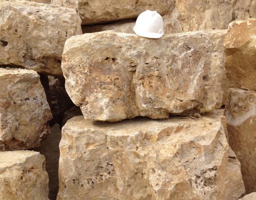
[[[157,11],[146,10],[142,12],[134,26],[136,34],[149,37],[160,38],[164,34],[164,20]]]

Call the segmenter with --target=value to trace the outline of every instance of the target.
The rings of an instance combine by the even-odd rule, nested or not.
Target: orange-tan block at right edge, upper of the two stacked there
[[[256,90],[256,19],[231,22],[223,44],[227,77],[242,88]]]

